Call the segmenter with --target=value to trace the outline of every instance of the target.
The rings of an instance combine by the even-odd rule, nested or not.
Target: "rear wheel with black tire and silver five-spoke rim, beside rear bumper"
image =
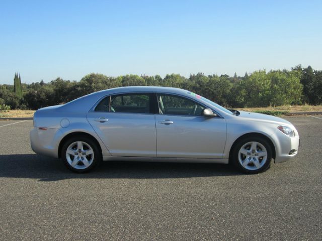
[[[102,161],[102,153],[97,143],[91,138],[75,136],[64,143],[61,158],[69,170],[85,173]]]

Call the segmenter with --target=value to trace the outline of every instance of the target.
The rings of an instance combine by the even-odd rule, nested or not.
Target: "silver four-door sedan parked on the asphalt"
[[[152,86],[102,90],[34,114],[32,150],[74,172],[101,161],[232,163],[255,174],[298,152],[285,119],[226,109],[191,91]]]

